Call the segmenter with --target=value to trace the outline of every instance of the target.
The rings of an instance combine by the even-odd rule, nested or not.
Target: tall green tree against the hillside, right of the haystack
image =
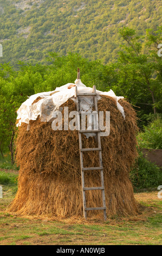
[[[161,40],[161,28],[156,33],[156,40]],[[153,113],[160,112],[161,101],[161,59],[147,31],[144,36],[137,36],[134,29],[124,27],[119,33],[126,41],[119,53],[118,72],[120,90],[137,106],[153,108]],[[141,39],[145,39],[142,43]],[[148,110],[147,109],[147,110]],[[148,110],[149,111],[149,110]]]

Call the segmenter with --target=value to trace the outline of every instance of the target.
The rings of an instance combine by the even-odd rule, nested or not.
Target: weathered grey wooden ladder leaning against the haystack
[[[77,86],[76,86],[76,100],[77,100],[77,112],[81,114],[79,111],[79,97],[80,96],[93,96],[94,99],[94,108],[96,114],[98,114],[98,101],[96,97],[96,87],[93,86],[93,93],[77,93]],[[82,133],[93,132],[96,133],[98,148],[82,148]],[[87,211],[89,210],[103,210],[103,216],[106,220],[106,202],[105,202],[105,186],[104,186],[104,179],[103,179],[103,164],[102,164],[102,149],[101,149],[101,138],[100,138],[100,129],[99,130],[81,130],[80,122],[79,122],[79,149],[80,149],[80,164],[81,164],[81,178],[82,178],[82,195],[83,195],[83,212],[84,217],[87,219]],[[99,167],[83,167],[83,152],[85,151],[99,151]],[[100,170],[100,177],[101,177],[101,186],[100,187],[85,187],[85,177],[84,172],[87,170]],[[86,191],[88,190],[101,190],[102,191],[102,204],[103,207],[96,207],[96,208],[87,208],[86,207]]]

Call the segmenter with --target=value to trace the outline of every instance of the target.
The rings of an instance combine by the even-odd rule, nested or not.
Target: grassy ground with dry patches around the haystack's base
[[[15,186],[3,185],[0,245],[161,245],[162,199],[159,191],[135,193],[142,214],[133,217],[48,219],[10,215]]]

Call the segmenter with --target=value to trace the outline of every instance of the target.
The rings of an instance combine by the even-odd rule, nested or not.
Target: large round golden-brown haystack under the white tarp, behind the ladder
[[[134,215],[138,207],[129,172],[137,157],[136,115],[125,100],[122,117],[109,96],[98,101],[99,111],[110,111],[111,132],[101,137],[107,215]],[[76,111],[74,101],[62,107]],[[18,192],[9,211],[21,215],[83,216],[79,138],[77,131],[54,131],[51,123],[30,120],[18,131],[16,159],[20,165]],[[83,136],[83,148],[96,148],[95,137]],[[83,153],[84,167],[99,166],[98,153]],[[100,172],[85,172],[86,186],[100,186]],[[101,191],[86,192],[87,207],[102,206]],[[102,211],[89,211],[88,215]]]

